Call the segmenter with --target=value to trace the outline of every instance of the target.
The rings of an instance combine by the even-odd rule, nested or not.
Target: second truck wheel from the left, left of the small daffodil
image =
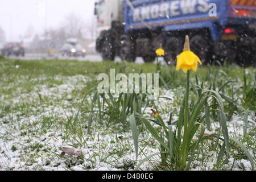
[[[119,56],[126,61],[134,62],[136,59],[135,44],[127,35],[122,35],[120,38]]]

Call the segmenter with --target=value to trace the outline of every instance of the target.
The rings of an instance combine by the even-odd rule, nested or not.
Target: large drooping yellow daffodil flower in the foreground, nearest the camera
[[[199,57],[195,55],[195,53],[190,51],[189,37],[188,35],[186,35],[183,52],[181,52],[180,55],[177,56],[176,70],[178,71],[181,68],[184,73],[187,73],[189,69],[192,69],[196,72],[197,62],[202,64]]]

